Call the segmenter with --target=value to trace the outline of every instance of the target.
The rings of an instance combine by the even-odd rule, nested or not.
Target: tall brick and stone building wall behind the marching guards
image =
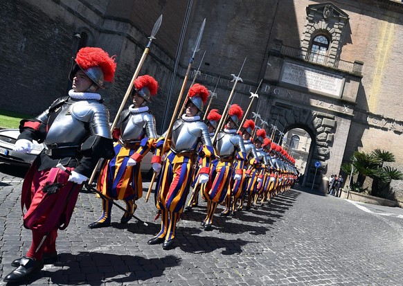
[[[159,81],[151,108],[159,132],[168,126],[206,18],[190,78],[199,67],[197,82],[217,89],[212,107],[222,110],[231,74],[247,58],[231,102],[246,109],[262,80],[252,109],[268,126],[302,128],[312,138],[305,184],[319,184],[312,182],[315,161],[321,175],[339,173],[356,150],[389,150],[393,166],[403,169],[403,4],[397,1],[3,0],[1,109],[39,113],[69,89],[78,48],[100,46],[118,62],[115,83],[104,92],[113,118],[161,14],[141,69]],[[393,188],[403,201],[398,183]]]

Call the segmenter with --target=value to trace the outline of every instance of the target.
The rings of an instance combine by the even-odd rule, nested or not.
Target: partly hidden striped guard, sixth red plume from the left
[[[232,193],[233,193],[233,204],[231,208],[231,215],[234,215],[235,208],[238,199],[240,199],[240,209],[242,209],[244,204],[244,196],[246,188],[244,188],[244,181],[246,181],[247,177],[250,177],[249,166],[251,164],[259,163],[258,154],[256,153],[256,148],[253,142],[251,141],[251,137],[253,135],[253,130],[255,129],[255,122],[251,119],[245,121],[244,127],[242,131],[242,139],[244,140],[244,146],[246,150],[246,162],[244,164],[244,172],[242,174],[242,179],[233,181]],[[236,169],[236,167],[235,167]]]

